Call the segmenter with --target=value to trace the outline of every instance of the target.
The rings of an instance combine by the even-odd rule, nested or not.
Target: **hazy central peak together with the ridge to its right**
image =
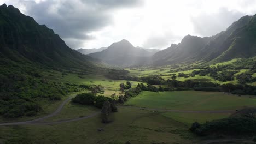
[[[164,50],[133,47],[127,40],[89,56],[121,67],[132,65],[170,65],[194,62],[222,62],[256,56],[256,15],[243,16],[226,31],[212,37],[187,35],[181,43]]]

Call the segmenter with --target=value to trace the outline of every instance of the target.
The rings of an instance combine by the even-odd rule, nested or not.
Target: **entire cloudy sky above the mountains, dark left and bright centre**
[[[54,29],[73,49],[109,46],[121,39],[164,49],[185,35],[211,36],[244,15],[254,0],[0,0]]]

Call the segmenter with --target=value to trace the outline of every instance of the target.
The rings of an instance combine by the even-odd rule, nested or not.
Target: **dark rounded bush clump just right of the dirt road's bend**
[[[75,96],[72,101],[82,105],[94,105],[95,95],[92,93],[81,93]]]

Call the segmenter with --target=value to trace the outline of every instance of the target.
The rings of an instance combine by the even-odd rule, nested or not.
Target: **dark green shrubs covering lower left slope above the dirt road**
[[[41,77],[36,77],[27,73],[27,71],[39,71],[35,68],[11,68],[12,73],[8,73],[8,69],[10,67],[3,67],[0,75],[0,114],[7,118],[20,117],[31,111],[38,112],[40,109],[34,110],[33,106],[37,107],[38,100],[42,98],[61,100],[68,92],[84,90],[78,85],[46,79],[42,74]]]

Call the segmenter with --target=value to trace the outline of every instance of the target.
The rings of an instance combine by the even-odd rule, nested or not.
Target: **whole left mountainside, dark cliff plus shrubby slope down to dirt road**
[[[56,79],[56,73],[104,73],[100,63],[70,49],[53,30],[11,5],[0,7],[0,47],[0,115],[5,118],[36,115],[42,101],[84,90]]]

